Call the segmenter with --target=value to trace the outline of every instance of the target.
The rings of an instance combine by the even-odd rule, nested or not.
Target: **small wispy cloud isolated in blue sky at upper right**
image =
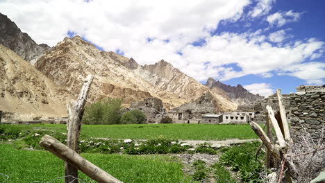
[[[303,12],[293,12],[292,10],[288,12],[276,12],[267,17],[267,21],[270,26],[284,26],[287,23],[295,22],[300,19],[300,15]]]

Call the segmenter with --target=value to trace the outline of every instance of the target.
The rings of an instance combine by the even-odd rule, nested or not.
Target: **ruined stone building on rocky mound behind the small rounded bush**
[[[144,101],[132,102],[130,110],[140,110],[147,116],[148,123],[159,123],[166,110],[159,98],[146,98]]]

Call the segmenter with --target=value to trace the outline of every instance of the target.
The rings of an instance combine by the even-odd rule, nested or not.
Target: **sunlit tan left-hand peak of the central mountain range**
[[[47,55],[40,58],[35,67],[56,84],[66,87],[74,94],[82,85],[81,78],[94,76],[90,89],[90,101],[100,98],[122,98],[125,103],[142,101],[156,96],[163,99],[167,107],[181,105],[184,100],[171,92],[156,89],[151,83],[136,75],[129,66],[137,67],[133,59],[114,52],[99,51],[81,37],[65,38]],[[124,64],[126,66],[124,66]]]

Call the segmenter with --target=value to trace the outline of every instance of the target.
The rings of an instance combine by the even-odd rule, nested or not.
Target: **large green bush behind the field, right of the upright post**
[[[88,125],[119,124],[122,100],[106,98],[85,108],[83,123]]]

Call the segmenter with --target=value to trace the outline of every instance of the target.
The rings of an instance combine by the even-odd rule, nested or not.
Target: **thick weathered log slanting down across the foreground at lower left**
[[[78,155],[76,151],[72,150],[65,146],[65,144],[61,143],[57,139],[49,136],[44,135],[40,141],[40,146],[44,147],[46,150],[49,150],[51,153],[63,159],[65,162],[68,162],[72,166],[76,167],[85,175],[92,178],[97,182],[102,183],[122,183],[120,180],[117,180],[112,175],[106,173],[98,166],[92,164],[87,159]]]

